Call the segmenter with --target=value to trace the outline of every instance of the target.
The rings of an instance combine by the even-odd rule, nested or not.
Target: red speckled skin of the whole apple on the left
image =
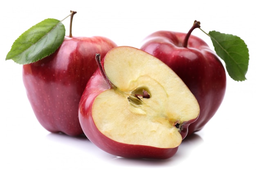
[[[52,55],[23,65],[22,77],[31,107],[50,132],[83,134],[78,106],[88,79],[97,69],[95,53],[103,56],[117,46],[104,37],[68,37]]]

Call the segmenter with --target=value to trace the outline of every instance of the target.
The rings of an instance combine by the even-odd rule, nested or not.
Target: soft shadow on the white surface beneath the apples
[[[117,157],[115,155],[111,155],[101,149],[99,149],[97,146],[92,144],[92,142],[85,136],[76,136],[71,137],[68,135],[65,135],[63,133],[49,133],[46,135],[46,138],[60,143],[61,145],[58,145],[58,147],[73,147],[76,150],[79,150],[79,152],[85,152],[86,155],[90,155],[93,157],[97,157],[100,159],[105,159],[110,162],[113,162],[117,165],[130,165],[131,167],[158,167],[158,166],[174,166],[177,165],[184,160],[184,158],[189,157],[191,155],[191,152],[193,151],[193,148],[198,146],[203,142],[203,139],[198,134],[192,134],[189,137],[186,137],[182,144],[180,144],[179,149],[177,153],[171,157],[170,159],[164,159],[164,160],[158,160],[158,159],[128,159],[124,157]],[[64,145],[64,146],[63,146]],[[90,154],[87,154],[90,153]]]

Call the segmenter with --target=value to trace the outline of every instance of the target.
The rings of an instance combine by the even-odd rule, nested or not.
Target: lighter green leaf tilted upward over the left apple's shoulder
[[[48,18],[22,33],[11,46],[6,60],[18,64],[29,64],[54,53],[65,37],[65,26],[61,21]]]

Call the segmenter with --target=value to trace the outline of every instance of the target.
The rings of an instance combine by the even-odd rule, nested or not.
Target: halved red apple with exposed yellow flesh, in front
[[[199,112],[194,95],[171,68],[144,51],[119,46],[88,81],[79,121],[88,139],[110,154],[167,159]]]

